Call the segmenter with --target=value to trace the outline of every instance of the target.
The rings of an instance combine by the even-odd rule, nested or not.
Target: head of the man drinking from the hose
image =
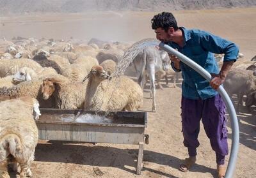
[[[173,41],[178,26],[175,17],[170,12],[162,12],[151,19],[152,29],[155,30],[157,40],[163,42]]]

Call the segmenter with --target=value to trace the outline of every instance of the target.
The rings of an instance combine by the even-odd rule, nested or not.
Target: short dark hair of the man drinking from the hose
[[[168,31],[170,27],[173,27],[177,31],[178,26],[175,17],[170,12],[163,11],[151,19],[152,29],[161,27],[164,31]]]

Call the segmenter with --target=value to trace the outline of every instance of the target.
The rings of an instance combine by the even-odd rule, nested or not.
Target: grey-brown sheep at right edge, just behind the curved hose
[[[237,112],[239,112],[239,105],[243,105],[243,96],[256,89],[256,77],[253,76],[253,71],[232,68],[223,85],[230,96],[237,94]]]

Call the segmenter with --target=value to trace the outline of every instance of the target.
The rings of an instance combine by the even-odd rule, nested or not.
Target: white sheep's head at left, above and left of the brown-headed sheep
[[[30,81],[33,77],[36,76],[36,73],[31,68],[20,68],[17,73],[15,73],[14,77],[12,78],[13,82],[20,83],[24,81]]]

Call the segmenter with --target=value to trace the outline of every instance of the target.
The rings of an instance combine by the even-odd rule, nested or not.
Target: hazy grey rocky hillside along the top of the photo
[[[198,10],[256,6],[255,0],[0,0],[0,15],[90,10]]]

